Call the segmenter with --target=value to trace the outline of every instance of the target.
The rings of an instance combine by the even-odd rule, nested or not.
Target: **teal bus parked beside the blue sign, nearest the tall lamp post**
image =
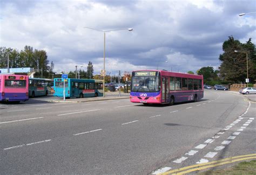
[[[63,97],[62,78],[54,79],[53,96]],[[97,97],[103,96],[103,81],[91,79],[65,79],[65,97]]]

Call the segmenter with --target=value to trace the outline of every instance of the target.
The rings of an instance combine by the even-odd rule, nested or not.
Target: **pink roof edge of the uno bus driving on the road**
[[[138,71],[156,71],[156,72],[160,72],[161,76],[175,76],[175,77],[184,77],[184,78],[191,78],[191,79],[203,79],[203,75],[194,75],[194,74],[171,72],[171,71],[164,71],[164,70],[149,69],[149,70],[138,70]],[[138,71],[132,71],[132,72],[138,72]]]

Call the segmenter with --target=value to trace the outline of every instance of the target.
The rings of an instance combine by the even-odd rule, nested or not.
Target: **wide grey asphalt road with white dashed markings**
[[[143,106],[129,99],[0,104],[1,174],[150,174],[256,153],[255,103],[204,99]]]

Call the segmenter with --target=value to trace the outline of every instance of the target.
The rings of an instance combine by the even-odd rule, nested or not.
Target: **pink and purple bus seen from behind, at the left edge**
[[[29,100],[28,75],[0,75],[0,101]]]

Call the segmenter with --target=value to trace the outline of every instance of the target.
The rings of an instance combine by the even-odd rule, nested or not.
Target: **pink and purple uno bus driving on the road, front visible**
[[[133,71],[130,101],[161,103],[197,101],[204,97],[203,76],[168,71]]]

